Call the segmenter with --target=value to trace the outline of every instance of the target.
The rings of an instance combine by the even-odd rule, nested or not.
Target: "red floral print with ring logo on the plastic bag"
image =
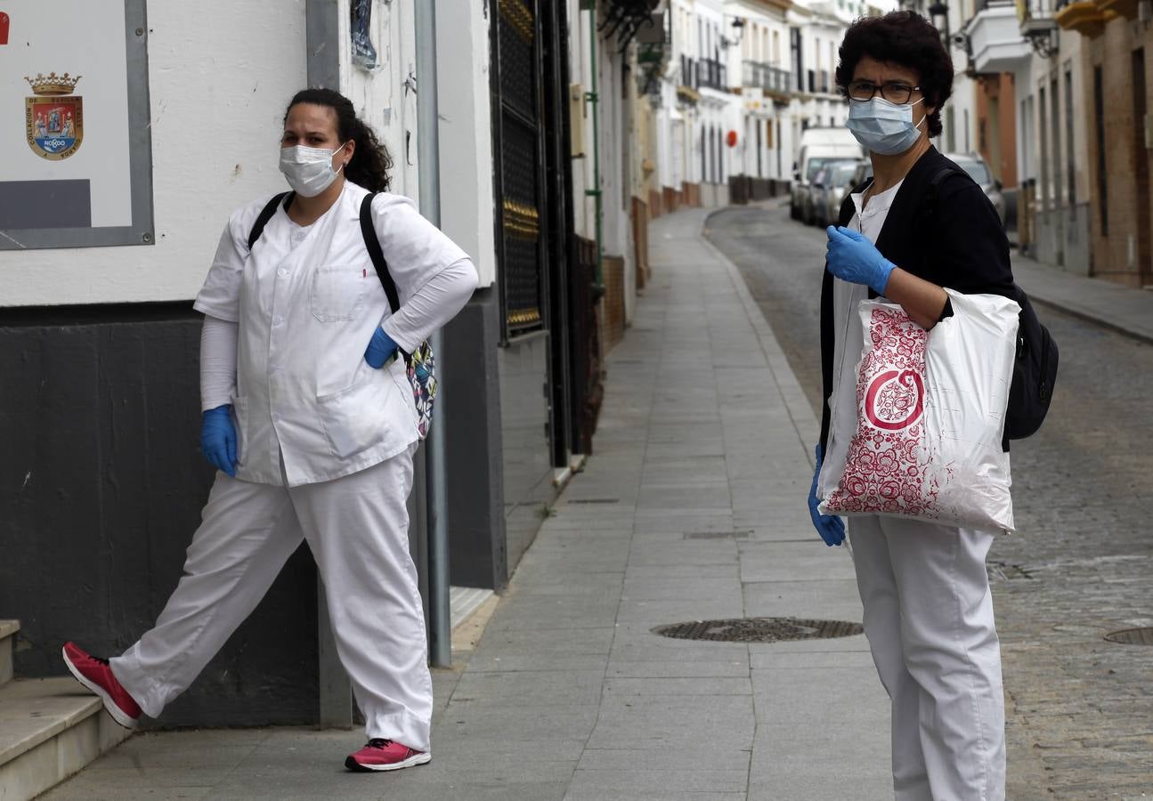
[[[903,312],[874,309],[869,338],[873,345],[858,371],[857,432],[826,506],[832,514],[935,519],[941,478],[930,475],[924,446],[927,332]]]

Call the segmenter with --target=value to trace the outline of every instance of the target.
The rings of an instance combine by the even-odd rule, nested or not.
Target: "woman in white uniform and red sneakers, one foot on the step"
[[[430,760],[432,686],[406,501],[417,411],[412,353],[476,288],[468,256],[385,191],[389,154],[341,95],[297,93],[280,169],[291,192],[249,249],[267,197],[232,214],[195,308],[201,445],[219,469],[184,575],[156,627],[103,660],[65,660],[120,724],[157,717],[248,617],[301,541],[324,580],[340,660],[366,717],[351,770]],[[366,249],[361,202],[400,308]]]

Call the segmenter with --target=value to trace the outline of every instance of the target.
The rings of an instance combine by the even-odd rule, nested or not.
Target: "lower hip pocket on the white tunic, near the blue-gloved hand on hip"
[[[379,444],[389,433],[395,386],[383,370],[369,370],[367,378],[339,392],[316,399],[321,428],[332,453],[355,456]]]

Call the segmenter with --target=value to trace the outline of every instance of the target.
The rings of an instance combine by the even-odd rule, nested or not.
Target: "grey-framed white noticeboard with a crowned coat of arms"
[[[152,244],[145,0],[0,0],[0,250]]]

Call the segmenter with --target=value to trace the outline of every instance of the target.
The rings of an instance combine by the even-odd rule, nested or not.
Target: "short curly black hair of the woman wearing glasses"
[[[866,55],[917,73],[925,105],[933,106],[929,136],[941,135],[941,108],[952,95],[952,59],[928,20],[914,12],[860,18],[845,31],[839,55],[837,89],[846,99],[857,63]]]

